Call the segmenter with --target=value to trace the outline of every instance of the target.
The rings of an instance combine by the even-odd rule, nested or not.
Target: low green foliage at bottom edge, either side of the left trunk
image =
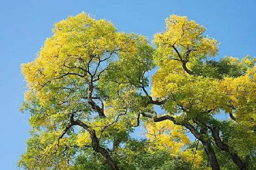
[[[124,147],[113,153],[122,170],[190,170],[191,164],[181,157],[172,157],[168,152],[158,150],[145,140],[129,140]],[[104,159],[93,150],[85,150],[75,160],[71,170],[109,170]]]

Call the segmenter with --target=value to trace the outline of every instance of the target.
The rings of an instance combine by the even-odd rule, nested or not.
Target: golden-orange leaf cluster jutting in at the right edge
[[[227,104],[236,108],[225,110],[233,112],[237,119],[247,122],[249,126],[256,127],[256,66],[248,69],[244,76],[225,78],[219,84],[219,90],[229,96]]]

